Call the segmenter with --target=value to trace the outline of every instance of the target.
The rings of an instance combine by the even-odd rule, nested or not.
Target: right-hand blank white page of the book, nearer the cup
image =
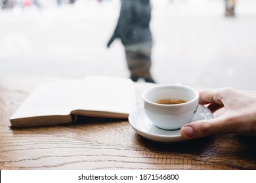
[[[135,85],[130,79],[88,76],[77,93],[73,110],[129,114],[135,107]]]

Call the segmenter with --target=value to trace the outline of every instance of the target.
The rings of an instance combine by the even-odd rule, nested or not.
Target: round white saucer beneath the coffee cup
[[[191,122],[195,122],[197,120],[209,120],[212,118],[213,114],[211,113],[211,110],[203,105],[198,105],[198,110]],[[164,130],[152,124],[152,122],[146,117],[142,105],[135,108],[135,110],[129,114],[129,123],[131,127],[139,133],[139,135],[152,141],[169,143],[187,140],[181,137],[180,129]]]

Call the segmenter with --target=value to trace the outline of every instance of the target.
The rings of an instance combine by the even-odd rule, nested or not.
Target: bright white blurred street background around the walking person
[[[160,84],[256,89],[256,0],[151,0]],[[129,78],[119,0],[0,0],[0,76]]]

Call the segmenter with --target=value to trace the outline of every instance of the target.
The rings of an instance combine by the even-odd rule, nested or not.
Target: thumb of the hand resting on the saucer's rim
[[[198,139],[219,132],[223,132],[223,120],[220,117],[192,122],[181,127],[181,136],[184,139]]]

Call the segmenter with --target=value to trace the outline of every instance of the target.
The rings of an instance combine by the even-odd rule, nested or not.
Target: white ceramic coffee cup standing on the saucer
[[[179,129],[188,124],[198,108],[199,94],[193,88],[167,84],[149,88],[142,93],[144,112],[148,119],[161,129]],[[163,99],[181,99],[179,104],[159,104]]]

